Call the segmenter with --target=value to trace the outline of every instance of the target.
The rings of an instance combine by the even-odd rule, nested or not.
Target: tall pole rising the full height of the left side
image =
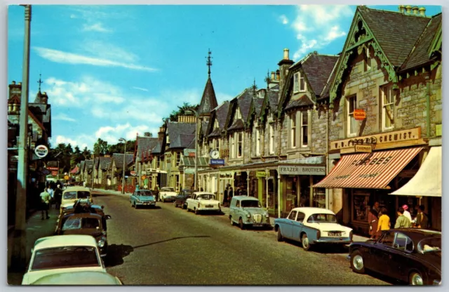
[[[28,86],[29,86],[29,36],[31,24],[31,5],[25,6],[25,41],[23,44],[22,96],[20,98],[20,140],[18,141],[19,160],[17,166],[17,194],[15,197],[15,230],[11,266],[22,270],[27,265],[27,183],[28,183]]]

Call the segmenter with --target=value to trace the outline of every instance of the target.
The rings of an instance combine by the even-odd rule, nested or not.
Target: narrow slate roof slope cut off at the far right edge
[[[441,13],[431,18],[429,24],[413,48],[413,51],[408,56],[406,62],[402,65],[401,70],[411,69],[430,61],[429,47],[431,46],[432,40],[438,31],[438,27],[441,25],[441,19]]]

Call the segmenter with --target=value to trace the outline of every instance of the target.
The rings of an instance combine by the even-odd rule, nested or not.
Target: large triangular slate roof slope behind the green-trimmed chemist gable
[[[418,15],[366,6],[358,6],[357,9],[395,67],[401,67],[430,20]]]

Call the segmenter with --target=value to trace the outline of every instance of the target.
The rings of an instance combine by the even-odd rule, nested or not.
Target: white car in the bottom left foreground
[[[22,285],[50,274],[106,272],[97,241],[90,235],[57,235],[36,240]]]

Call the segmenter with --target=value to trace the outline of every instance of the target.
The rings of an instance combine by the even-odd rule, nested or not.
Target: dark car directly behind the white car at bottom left
[[[60,218],[55,235],[84,234],[91,235],[97,241],[100,255],[107,255],[106,220],[111,216],[94,213],[71,213]]]

